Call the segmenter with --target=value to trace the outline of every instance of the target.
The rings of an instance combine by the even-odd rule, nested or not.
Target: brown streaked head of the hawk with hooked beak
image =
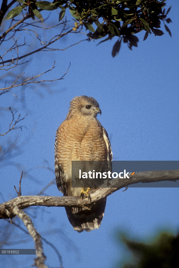
[[[101,109],[99,109],[99,103],[93,97],[77,96],[70,101],[69,112],[66,120],[74,116],[84,115],[90,117],[96,117],[97,114],[101,115]]]

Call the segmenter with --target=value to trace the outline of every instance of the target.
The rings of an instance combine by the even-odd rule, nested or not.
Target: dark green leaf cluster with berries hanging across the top
[[[80,25],[84,25],[89,30],[88,36],[93,39],[107,38],[101,42],[118,36],[119,40],[113,47],[112,56],[118,54],[121,40],[128,44],[129,49],[132,46],[137,47],[138,38],[134,34],[145,30],[144,40],[152,32],[158,36],[163,35],[161,21],[166,23],[172,22],[167,15],[171,9],[165,11],[165,0],[54,0],[53,3],[48,1],[36,0],[16,0],[19,6],[13,8],[5,19],[17,16],[23,9],[29,9],[26,16],[36,16],[41,21],[42,10],[55,10],[60,8],[59,21],[65,16],[65,11],[69,8],[70,13],[76,24],[73,30],[76,31]],[[39,8],[39,9],[38,9]],[[102,23],[101,23],[102,22]],[[96,30],[94,25],[97,26]],[[83,27],[83,26],[82,26]],[[169,28],[165,24],[165,29],[171,36]],[[101,43],[100,42],[100,43]]]

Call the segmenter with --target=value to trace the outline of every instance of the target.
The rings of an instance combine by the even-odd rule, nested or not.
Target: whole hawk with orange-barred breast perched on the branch
[[[55,177],[58,190],[64,196],[89,196],[90,188],[72,187],[72,161],[112,161],[107,131],[98,121],[101,115],[98,102],[87,96],[70,102],[67,118],[59,126],[55,137]],[[65,207],[73,229],[79,233],[98,229],[104,216],[106,198],[82,207]]]

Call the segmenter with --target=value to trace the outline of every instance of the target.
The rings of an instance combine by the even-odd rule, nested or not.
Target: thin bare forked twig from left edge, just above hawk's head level
[[[62,80],[62,79],[64,79],[64,76],[67,74],[67,72],[68,72],[68,70],[69,70],[69,68],[70,68],[71,62],[70,62],[70,65],[69,65],[69,67],[68,67],[68,69],[67,69],[67,72],[66,72],[64,75],[62,75],[61,78],[58,78],[58,79],[52,79],[52,80],[40,80],[40,81],[30,81],[30,82],[27,82],[27,81],[32,80],[32,79],[35,79],[35,78],[37,78],[37,77],[39,77],[39,76],[41,76],[41,75],[44,75],[44,74],[46,74],[47,72],[52,71],[52,70],[55,68],[54,65],[55,65],[55,61],[54,61],[54,63],[53,63],[53,67],[52,67],[51,69],[49,69],[49,70],[47,70],[47,71],[45,71],[45,72],[43,72],[43,73],[41,73],[41,74],[39,74],[39,75],[35,75],[35,76],[32,75],[31,78],[25,79],[24,82],[22,82],[21,84],[15,85],[16,82],[17,82],[17,80],[18,80],[18,78],[19,78],[21,75],[24,75],[24,73],[22,73],[21,75],[18,75],[18,77],[16,78],[16,80],[14,81],[14,83],[13,83],[11,86],[9,86],[9,87],[5,87],[5,88],[1,88],[0,90],[10,90],[10,89],[12,89],[13,87],[23,86],[23,85],[27,85],[27,84],[33,84],[33,83],[53,82],[53,81],[57,81],[57,80]],[[8,131],[8,132],[9,132],[9,131]],[[5,134],[4,134],[4,135],[5,135]],[[2,136],[2,135],[1,135],[1,136]]]

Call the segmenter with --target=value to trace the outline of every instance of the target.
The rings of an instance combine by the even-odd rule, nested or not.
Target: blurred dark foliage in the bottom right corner
[[[124,268],[178,268],[179,233],[163,232],[153,243],[132,241],[123,236],[123,242],[133,253],[133,261]]]

